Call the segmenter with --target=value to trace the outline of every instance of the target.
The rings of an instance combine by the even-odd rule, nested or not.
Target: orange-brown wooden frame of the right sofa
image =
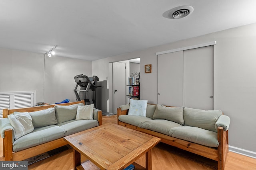
[[[206,147],[204,145],[200,145],[197,143],[192,143],[189,141],[185,141],[182,139],[178,139],[175,137],[171,137],[168,135],[164,135],[162,133],[158,133],[155,131],[151,131],[148,129],[143,129],[134,125],[130,125],[128,123],[124,123],[118,120],[120,115],[127,115],[128,110],[121,110],[121,108],[117,109],[117,124],[128,127],[130,129],[134,129],[143,133],[147,133],[149,135],[159,137],[162,143],[166,143],[168,145],[172,145],[174,147],[186,150],[188,152],[192,152],[206,158],[210,158],[212,160],[216,160],[218,162],[218,170],[224,170],[226,164],[226,158],[228,155],[228,131],[224,131],[223,127],[218,127],[218,142],[219,146],[217,148]]]

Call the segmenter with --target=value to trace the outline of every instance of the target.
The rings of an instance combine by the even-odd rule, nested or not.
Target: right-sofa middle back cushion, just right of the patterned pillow
[[[182,107],[168,107],[157,104],[153,119],[165,119],[183,125],[183,109]]]

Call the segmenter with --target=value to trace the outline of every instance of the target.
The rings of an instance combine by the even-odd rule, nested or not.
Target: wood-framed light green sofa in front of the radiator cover
[[[93,119],[76,120],[78,106],[83,102],[4,109],[0,120],[0,135],[3,138],[5,160],[25,160],[43,152],[67,145],[63,137],[102,125],[102,112],[93,108]],[[18,139],[14,136],[8,115],[28,112],[34,130]],[[21,113],[21,114],[22,114]]]

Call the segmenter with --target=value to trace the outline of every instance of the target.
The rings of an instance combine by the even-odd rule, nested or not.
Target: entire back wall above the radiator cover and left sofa
[[[53,104],[64,99],[74,102],[74,76],[92,76],[92,62],[46,57],[45,70],[44,85],[43,54],[0,48],[0,92],[36,91],[36,102]]]

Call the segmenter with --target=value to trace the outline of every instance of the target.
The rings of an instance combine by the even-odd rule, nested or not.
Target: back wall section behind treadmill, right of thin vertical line
[[[75,102],[74,76],[92,76],[92,62],[68,57],[46,57],[45,70],[44,101],[53,104],[69,99],[70,102]]]

